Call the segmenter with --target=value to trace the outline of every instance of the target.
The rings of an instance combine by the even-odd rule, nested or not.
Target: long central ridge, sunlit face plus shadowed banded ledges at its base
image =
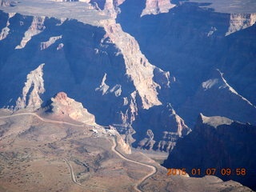
[[[138,127],[137,129],[135,128],[137,134],[134,134],[137,135],[134,136],[137,139],[135,146],[149,150],[169,151],[174,148],[177,138],[186,135],[187,131],[190,129],[180,117],[174,118],[174,121],[170,123],[171,125],[168,123],[165,124],[166,122],[162,121],[162,125],[165,126],[162,126],[161,128],[157,128],[157,122],[150,122],[150,125],[148,125],[148,123],[141,121],[140,118],[138,118],[140,116],[140,111],[149,110],[150,108],[162,105],[162,102],[160,102],[158,98],[158,91],[170,88],[170,83],[174,82],[174,80],[170,78],[169,71],[166,72],[152,65],[145,55],[142,54],[136,39],[124,32],[122,27],[115,22],[114,19],[119,13],[118,6],[121,5],[122,2],[106,1],[103,11],[108,13],[112,19],[102,22],[104,29],[106,30],[105,37],[110,38],[110,41],[120,50],[120,54],[123,55],[126,64],[126,75],[128,75],[130,81],[134,83],[134,87],[136,88],[136,91],[128,97],[131,98],[129,99],[130,102],[128,98],[124,98],[123,106],[129,107],[119,113],[119,117],[122,121],[118,124],[118,130],[125,135],[126,142],[131,143],[134,142],[134,139],[131,138],[131,134],[134,134],[134,129],[130,126]],[[160,6],[162,6],[162,4]],[[107,90],[108,87],[106,86],[105,81],[103,83],[102,80],[102,85],[99,89],[102,89],[102,94],[106,92],[104,90]],[[153,111],[154,114],[157,114],[157,110]],[[147,112],[142,112],[142,114],[145,113]],[[150,113],[148,115],[150,115]],[[175,112],[174,116],[176,117]],[[146,128],[146,125],[150,128]],[[153,129],[154,131],[147,129]],[[174,132],[169,129],[173,129]],[[144,134],[142,133],[144,131],[146,132],[146,138],[143,138]],[[166,131],[167,134],[172,136],[166,136],[167,134],[160,134],[160,136],[158,132],[162,133],[162,131]],[[151,134],[154,135],[154,132],[157,133],[157,141],[154,141],[154,136],[149,136]],[[179,133],[176,134],[176,132]]]

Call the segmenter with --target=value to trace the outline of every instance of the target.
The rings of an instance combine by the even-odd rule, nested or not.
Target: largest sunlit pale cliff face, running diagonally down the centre
[[[118,46],[126,63],[126,74],[134,82],[138,94],[142,99],[142,108],[149,109],[162,103],[158,100],[157,88],[154,82],[154,66],[140,52],[138,43],[130,34],[122,31],[120,25],[107,23],[105,26],[106,37]],[[126,43],[123,43],[125,40]]]

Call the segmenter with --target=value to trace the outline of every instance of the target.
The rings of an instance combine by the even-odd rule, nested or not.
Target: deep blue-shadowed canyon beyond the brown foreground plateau
[[[214,162],[230,159],[218,169],[239,156],[229,156],[230,149],[219,156],[222,137],[234,145],[255,144],[249,136],[256,124],[253,2],[1,0],[0,5],[0,107],[8,113],[109,127],[127,154],[131,147],[170,153],[166,168],[177,163],[189,169],[199,161],[178,164],[179,150],[199,153],[182,141],[203,146],[194,135],[220,145]],[[218,133],[215,121],[228,128]],[[198,129],[209,125],[218,134]],[[250,133],[239,140],[243,130]],[[254,169],[254,148],[239,147],[246,149],[243,165]],[[232,179],[255,190],[252,178]]]

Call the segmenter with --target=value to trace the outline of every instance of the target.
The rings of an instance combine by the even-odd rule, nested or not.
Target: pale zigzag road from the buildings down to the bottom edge
[[[132,159],[126,158],[123,154],[121,154],[116,148],[118,146],[118,142],[117,142],[117,138],[114,137],[112,138],[113,141],[113,146],[111,147],[111,150],[117,154],[120,158],[126,160],[127,162],[133,162],[135,164],[138,164],[140,166],[146,166],[149,167],[152,171],[150,171],[149,174],[146,174],[143,178],[141,178],[140,180],[138,180],[138,182],[136,183],[136,185],[134,186],[134,189],[136,191],[142,192],[142,183],[146,181],[146,179],[152,177],[154,174],[156,174],[158,172],[158,168],[156,166],[151,166],[150,164],[144,163],[144,162],[137,162],[134,161]]]

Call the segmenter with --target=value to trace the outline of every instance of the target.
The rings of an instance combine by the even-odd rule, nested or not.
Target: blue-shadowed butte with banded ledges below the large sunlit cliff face
[[[134,134],[137,139],[135,145],[147,150],[173,150],[178,138],[185,137],[191,131],[170,104],[140,112],[134,125],[141,127],[136,130],[141,136]]]

